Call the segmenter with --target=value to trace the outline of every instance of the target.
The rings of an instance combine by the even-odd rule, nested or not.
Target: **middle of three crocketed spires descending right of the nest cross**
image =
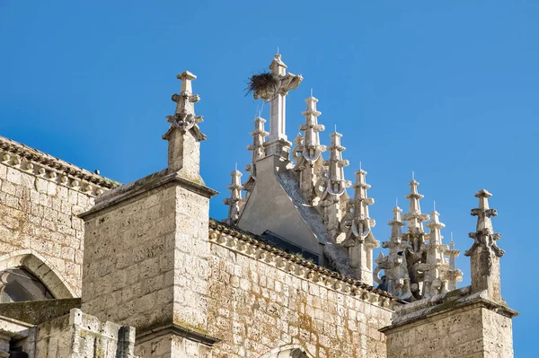
[[[337,130],[331,134],[331,146],[328,148],[330,159],[323,162],[323,165],[327,167],[327,177],[323,177],[325,188],[320,203],[323,206],[326,229],[337,242],[339,242],[337,237],[342,232],[340,230],[342,211],[346,206],[346,200],[341,203],[341,199],[348,199],[346,188],[351,185],[348,180],[344,179],[344,167],[347,167],[349,162],[342,159],[342,152],[346,148],[340,145],[340,137],[342,135]]]

